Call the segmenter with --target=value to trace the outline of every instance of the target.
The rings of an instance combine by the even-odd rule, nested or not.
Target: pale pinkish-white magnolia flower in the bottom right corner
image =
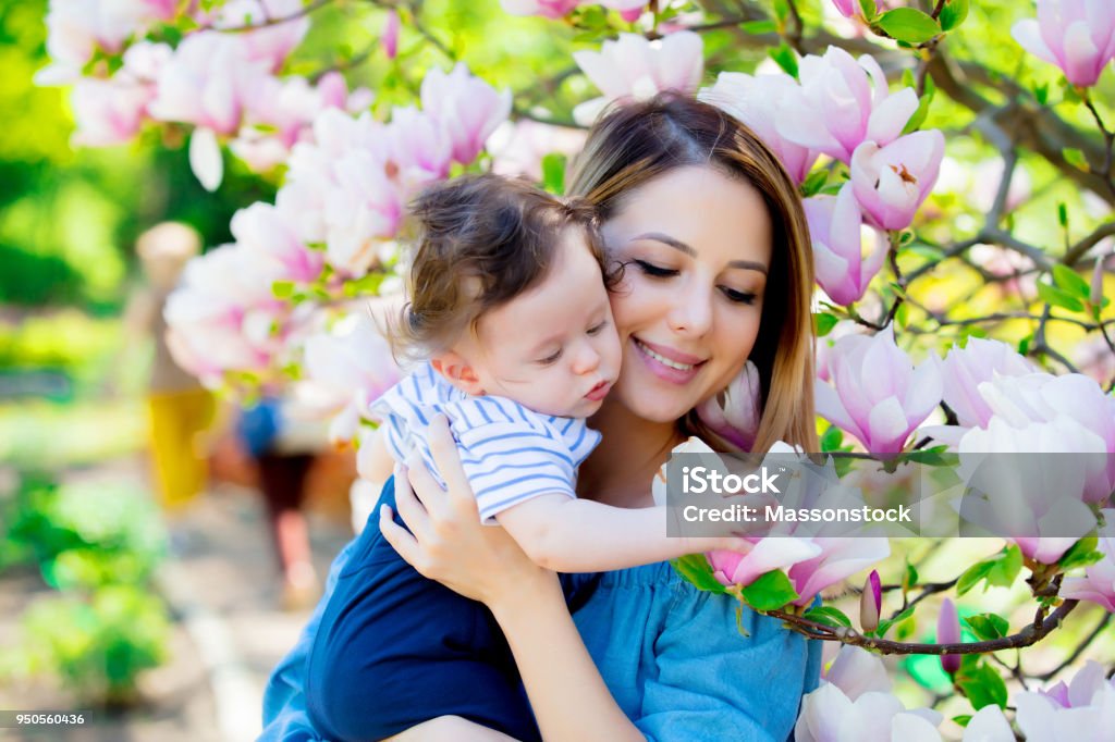
[[[1015,696],[1016,721],[1027,740],[1102,742],[1111,738],[1115,719],[1115,681],[1104,667],[1088,661],[1073,680],[1048,691]]]

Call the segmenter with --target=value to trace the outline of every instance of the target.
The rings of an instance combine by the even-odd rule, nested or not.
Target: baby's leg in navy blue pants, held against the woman
[[[444,716],[540,739],[487,609],[415,572],[375,519],[322,614],[306,693],[317,731],[339,742],[381,740]]]

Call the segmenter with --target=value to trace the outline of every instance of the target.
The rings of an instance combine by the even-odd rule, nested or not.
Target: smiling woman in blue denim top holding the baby
[[[694,410],[748,359],[762,378],[755,448],[780,439],[815,450],[808,234],[794,184],[755,135],[688,98],[619,107],[590,134],[571,194],[598,206],[610,256],[626,266],[612,300],[623,367],[591,420],[603,442],[580,469],[579,495],[646,507],[655,471],[687,436],[729,450]],[[789,735],[820,647],[752,612],[743,636],[734,599],[696,590],[667,564],[602,575],[571,618],[556,578],[479,526],[452,441],[440,443],[448,494],[416,467],[418,498],[396,478],[414,536],[389,507],[379,528],[421,574],[491,608],[547,742]],[[313,739],[300,697],[304,644],[272,677],[266,736]],[[501,739],[456,717],[408,736]]]

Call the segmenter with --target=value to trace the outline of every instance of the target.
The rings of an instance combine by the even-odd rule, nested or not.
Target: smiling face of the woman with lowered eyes
[[[612,294],[623,363],[609,403],[672,422],[739,373],[770,267],[770,218],[749,183],[705,166],[632,191],[603,225],[626,265]]]

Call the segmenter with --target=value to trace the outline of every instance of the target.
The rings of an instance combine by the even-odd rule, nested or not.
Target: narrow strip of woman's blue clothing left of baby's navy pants
[[[326,580],[324,594],[318,601],[309,623],[298,637],[294,648],[287,653],[278,666],[271,672],[268,685],[263,692],[263,733],[262,742],[302,742],[323,740],[310,724],[310,715],[306,709],[306,661],[318,633],[321,614],[329,603],[329,596],[337,587],[337,577],[357,545],[359,537],[353,538],[341,549],[329,567],[329,578]]]

